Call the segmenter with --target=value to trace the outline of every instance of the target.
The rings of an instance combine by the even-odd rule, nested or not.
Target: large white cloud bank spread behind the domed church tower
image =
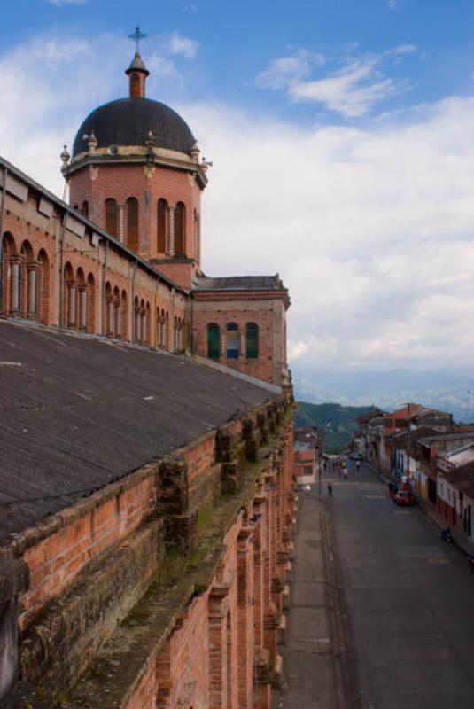
[[[130,51],[114,37],[56,42],[39,38],[0,56],[0,132],[4,157],[61,194],[62,144],[95,105],[126,92]],[[173,76],[151,79],[149,96],[176,85]],[[214,160],[204,268],[281,274],[295,370],[470,365],[474,97],[364,129],[303,129],[225,105],[170,103]]]

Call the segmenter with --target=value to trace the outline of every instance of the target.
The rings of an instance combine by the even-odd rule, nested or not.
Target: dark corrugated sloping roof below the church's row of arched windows
[[[279,391],[188,357],[2,320],[0,390],[0,538]]]

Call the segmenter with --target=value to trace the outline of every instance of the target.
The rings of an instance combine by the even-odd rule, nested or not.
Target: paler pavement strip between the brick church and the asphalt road
[[[331,503],[299,495],[279,709],[356,709]]]

